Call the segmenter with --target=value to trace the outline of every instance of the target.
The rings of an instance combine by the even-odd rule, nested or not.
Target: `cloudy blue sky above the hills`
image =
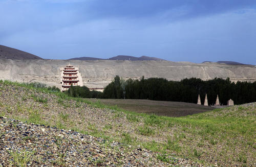
[[[256,1],[0,0],[0,44],[46,59],[256,65]]]

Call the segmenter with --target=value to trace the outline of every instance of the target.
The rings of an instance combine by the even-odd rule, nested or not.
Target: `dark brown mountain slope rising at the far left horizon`
[[[12,47],[0,45],[0,59],[25,60],[25,59],[42,59],[42,58],[24,51],[14,49]]]

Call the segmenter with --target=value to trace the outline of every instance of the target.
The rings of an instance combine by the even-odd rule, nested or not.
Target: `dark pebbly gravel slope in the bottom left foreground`
[[[130,152],[120,143],[107,145],[104,139],[74,131],[0,117],[0,132],[2,166],[22,163],[25,155],[28,166],[165,166],[150,151]],[[20,154],[19,162],[15,153]]]

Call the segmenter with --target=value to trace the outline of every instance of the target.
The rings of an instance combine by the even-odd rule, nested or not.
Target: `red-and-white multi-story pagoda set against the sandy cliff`
[[[82,86],[82,77],[79,72],[79,68],[69,64],[68,66],[61,68],[60,72],[60,84],[62,91],[68,90],[71,85]]]

